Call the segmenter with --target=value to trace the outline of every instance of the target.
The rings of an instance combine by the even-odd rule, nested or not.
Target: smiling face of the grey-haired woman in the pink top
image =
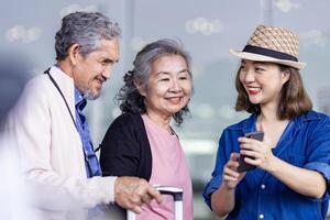
[[[184,57],[169,54],[155,59],[145,89],[147,112],[162,117],[173,117],[189,102],[193,79]]]

